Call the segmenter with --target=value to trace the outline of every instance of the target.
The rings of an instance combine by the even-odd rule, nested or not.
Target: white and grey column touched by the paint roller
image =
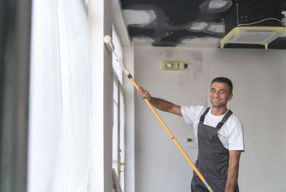
[[[92,130],[88,191],[112,190],[113,69],[103,43],[112,34],[112,1],[89,0]]]

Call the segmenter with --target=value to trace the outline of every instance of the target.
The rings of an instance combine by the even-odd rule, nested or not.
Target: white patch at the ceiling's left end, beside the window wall
[[[143,27],[152,23],[156,19],[156,14],[153,10],[123,10],[124,21],[127,25],[137,25]]]

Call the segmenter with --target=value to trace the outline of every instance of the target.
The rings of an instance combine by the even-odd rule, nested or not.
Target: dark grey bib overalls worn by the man
[[[204,125],[204,117],[209,110],[210,108],[207,108],[201,116],[198,125],[197,138],[199,152],[195,165],[214,192],[224,192],[227,180],[229,154],[228,150],[225,149],[218,138],[218,130],[226,120],[228,120],[230,115],[232,115],[232,111],[228,110],[221,122],[219,122],[216,127],[211,127]],[[191,191],[208,191],[196,172],[194,172],[192,179]],[[234,191],[239,192],[238,184],[236,184]]]

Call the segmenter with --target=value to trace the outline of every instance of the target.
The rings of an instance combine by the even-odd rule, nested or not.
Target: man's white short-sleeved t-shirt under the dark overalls
[[[181,111],[187,124],[194,125],[194,131],[197,138],[197,130],[201,115],[207,109],[207,106],[182,106]],[[216,127],[221,122],[224,115],[215,116],[211,114],[211,109],[204,118],[204,125]],[[228,150],[242,150],[244,152],[243,125],[235,115],[231,115],[228,120],[218,130],[218,138],[223,146]]]

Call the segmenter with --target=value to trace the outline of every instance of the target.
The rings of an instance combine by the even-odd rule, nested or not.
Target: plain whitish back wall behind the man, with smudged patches
[[[241,191],[284,191],[286,178],[285,50],[135,47],[134,79],[152,96],[177,105],[210,105],[215,77],[232,80],[229,103],[245,127],[245,153],[239,170]],[[183,60],[184,71],[163,71],[163,60]],[[190,158],[197,158],[192,126],[183,117],[159,111]],[[144,101],[135,95],[135,191],[190,191],[193,169]]]

